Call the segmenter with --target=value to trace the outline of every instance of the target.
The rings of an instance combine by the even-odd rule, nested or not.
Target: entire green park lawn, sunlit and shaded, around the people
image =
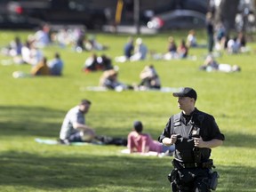
[[[31,32],[0,31],[0,44],[15,35]],[[150,50],[164,52],[170,34],[143,36]],[[173,32],[177,38],[186,33]],[[197,34],[205,44],[204,32]],[[121,55],[127,36],[97,34],[97,39],[110,46],[104,53],[114,58]],[[138,83],[140,70],[154,64],[163,86],[192,86],[198,92],[197,108],[215,116],[226,141],[214,148],[220,173],[218,191],[256,191],[255,149],[255,43],[253,52],[240,55],[223,54],[222,63],[237,64],[241,73],[205,73],[198,70],[206,54],[204,49],[189,53],[197,60],[146,60],[117,64],[120,80]],[[170,191],[166,178],[171,158],[127,156],[116,146],[48,146],[35,138],[56,139],[67,110],[88,98],[92,109],[87,122],[99,134],[126,137],[132,122],[140,119],[146,132],[156,139],[169,116],[179,112],[177,101],[167,92],[88,92],[86,86],[97,86],[100,72],[84,74],[81,68],[89,52],[52,46],[44,50],[49,59],[58,51],[65,60],[64,76],[15,79],[16,70],[29,72],[23,65],[0,65],[0,191]],[[102,52],[100,52],[102,53]],[[9,60],[0,56],[1,62]]]

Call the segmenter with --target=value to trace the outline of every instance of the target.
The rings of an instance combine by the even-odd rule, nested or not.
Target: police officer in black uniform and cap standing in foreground
[[[213,116],[196,107],[197,94],[190,87],[172,94],[178,98],[179,114],[171,116],[158,140],[166,146],[175,144],[168,175],[172,191],[211,191],[217,186],[218,173],[212,172],[211,148],[225,140]]]

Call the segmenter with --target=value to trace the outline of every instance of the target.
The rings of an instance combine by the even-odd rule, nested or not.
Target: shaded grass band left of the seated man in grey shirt
[[[1,106],[0,132],[2,136],[56,137],[65,113],[52,108]]]

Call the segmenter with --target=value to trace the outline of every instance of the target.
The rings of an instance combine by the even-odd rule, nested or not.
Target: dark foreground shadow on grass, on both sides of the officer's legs
[[[19,152],[1,154],[0,186],[37,188],[46,191],[81,188],[166,188],[171,170],[169,159],[134,156],[37,156]],[[158,163],[156,163],[158,162]],[[220,191],[252,191],[256,168],[218,166]],[[243,175],[243,177],[241,177]],[[95,190],[96,191],[96,190]],[[108,191],[108,190],[104,190]],[[159,191],[159,190],[158,190]],[[167,191],[167,190],[166,190]],[[168,190],[169,191],[169,190]],[[232,191],[232,190],[231,190]]]

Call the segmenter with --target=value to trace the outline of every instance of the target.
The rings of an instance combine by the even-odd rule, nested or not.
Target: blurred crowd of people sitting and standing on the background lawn
[[[93,71],[102,71],[100,76],[100,86],[108,89],[115,89],[116,86],[122,85],[123,89],[159,89],[161,87],[160,77],[156,74],[156,66],[147,64],[143,69],[144,74],[147,68],[153,68],[151,75],[154,77],[141,77],[141,83],[138,85],[124,85],[117,80],[118,70],[113,65],[113,60],[116,63],[134,62],[138,60],[197,60],[198,56],[189,54],[190,49],[202,48],[207,49],[207,55],[202,62],[200,70],[222,71],[222,72],[237,72],[241,68],[236,64],[218,63],[216,58],[221,55],[221,52],[228,54],[239,54],[250,52],[247,46],[247,39],[244,32],[237,32],[234,36],[229,36],[229,33],[222,23],[215,25],[212,18],[212,12],[206,14],[205,31],[207,34],[207,43],[200,44],[196,38],[196,30],[188,30],[188,36],[180,39],[180,44],[176,44],[174,36],[169,36],[166,42],[166,50],[164,52],[156,52],[148,48],[148,44],[139,36],[136,39],[133,36],[128,36],[127,42],[124,43],[123,55],[116,55],[110,58],[105,51],[111,49],[111,46],[102,44],[97,41],[96,36],[86,34],[82,28],[60,28],[57,31],[52,31],[50,25],[45,24],[43,28],[36,31],[35,34],[28,36],[23,43],[20,36],[16,36],[8,46],[2,48],[1,52],[4,55],[12,57],[12,62],[15,64],[31,65],[29,76],[62,76],[65,60],[60,57],[60,52],[52,53],[52,59],[44,55],[44,48],[52,44],[59,48],[70,48],[73,52],[91,52],[90,56],[84,58],[82,71],[90,73]],[[58,49],[56,49],[58,50]],[[101,52],[100,54],[98,52]],[[142,72],[141,72],[142,73]],[[155,74],[155,75],[152,75]],[[15,76],[23,77],[22,75]],[[28,76],[28,74],[27,74]],[[148,79],[154,79],[150,83]],[[147,82],[148,81],[148,82]],[[107,83],[108,82],[108,83]],[[142,86],[143,85],[143,86]],[[144,88],[141,88],[144,87]]]

